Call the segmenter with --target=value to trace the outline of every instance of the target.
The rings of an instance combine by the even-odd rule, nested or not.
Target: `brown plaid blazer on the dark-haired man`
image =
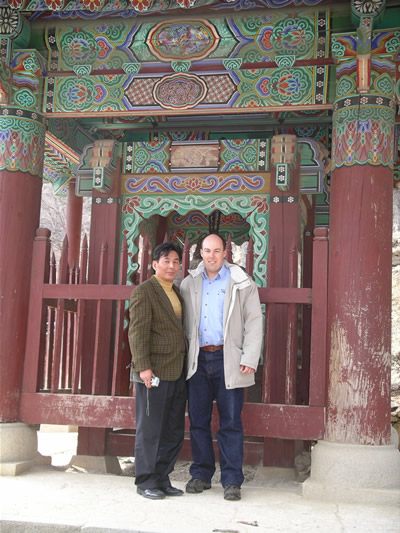
[[[133,370],[151,368],[163,381],[181,376],[186,355],[184,303],[175,286],[174,290],[182,305],[182,323],[154,276],[136,287],[130,299],[128,336]]]

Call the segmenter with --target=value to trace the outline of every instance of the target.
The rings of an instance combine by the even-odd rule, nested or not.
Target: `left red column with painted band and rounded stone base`
[[[45,126],[25,110],[5,110],[8,115],[0,115],[5,134],[0,152],[0,473],[16,475],[32,466],[37,454],[36,431],[18,422],[18,407]]]

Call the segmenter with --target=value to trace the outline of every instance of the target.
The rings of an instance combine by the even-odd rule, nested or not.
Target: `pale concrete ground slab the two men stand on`
[[[300,482],[277,472],[269,479],[265,469],[243,485],[240,502],[225,501],[218,483],[150,501],[133,477],[44,465],[1,478],[0,490],[2,533],[399,533],[400,524],[399,507],[306,500]]]

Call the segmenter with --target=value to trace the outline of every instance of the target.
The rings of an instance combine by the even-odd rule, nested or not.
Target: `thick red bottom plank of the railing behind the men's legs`
[[[23,393],[19,417],[27,424],[135,429],[135,398],[86,394]],[[318,440],[324,436],[324,407],[247,403],[247,436]]]

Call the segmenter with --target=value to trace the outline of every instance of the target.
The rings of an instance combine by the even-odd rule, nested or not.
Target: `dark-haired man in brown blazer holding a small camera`
[[[182,252],[170,242],[153,253],[155,275],[132,291],[129,345],[136,381],[137,492],[160,500],[180,496],[169,474],[182,448],[186,386],[184,306],[174,287]],[[154,377],[159,378],[158,385]]]

